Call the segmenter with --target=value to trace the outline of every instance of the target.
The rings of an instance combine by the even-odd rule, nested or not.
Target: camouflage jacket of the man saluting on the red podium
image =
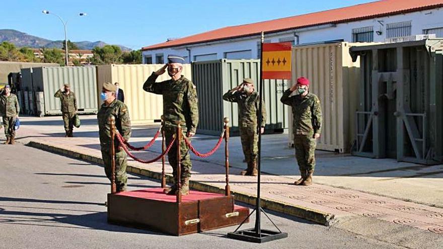
[[[163,95],[163,118],[165,126],[177,127],[180,121],[187,131],[196,132],[198,124],[197,91],[191,80],[183,75],[177,80],[156,82],[151,74],[143,84],[143,90]]]

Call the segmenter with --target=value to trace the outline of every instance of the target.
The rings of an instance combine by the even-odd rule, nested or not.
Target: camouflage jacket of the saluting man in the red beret
[[[289,97],[292,92],[288,89],[280,101],[292,107],[294,134],[313,135],[322,129],[322,108],[319,98],[309,93],[304,98],[300,95]]]

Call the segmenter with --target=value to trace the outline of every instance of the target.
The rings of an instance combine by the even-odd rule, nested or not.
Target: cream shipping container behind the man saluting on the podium
[[[152,72],[160,69],[164,64],[127,64],[127,65],[98,65],[97,90],[99,108],[101,106],[100,93],[104,82],[118,82],[124,91],[125,104],[129,109],[132,124],[149,124],[160,120],[163,114],[163,97],[143,91],[144,81]],[[184,64],[182,74],[191,79],[191,65]],[[157,81],[171,77],[164,73]]]

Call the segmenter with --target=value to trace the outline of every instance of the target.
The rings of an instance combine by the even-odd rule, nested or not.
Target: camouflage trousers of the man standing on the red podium
[[[170,127],[170,126],[164,126],[163,131],[165,132],[165,140],[166,140],[166,146],[171,143],[174,134],[177,131],[176,127]],[[184,136],[184,135],[183,135]],[[188,138],[190,140],[190,138]],[[191,177],[191,169],[192,169],[192,163],[191,163],[191,157],[189,155],[189,148],[186,146],[184,139],[180,141],[180,171],[181,176],[180,178],[189,178]],[[174,176],[174,179],[177,179],[177,143],[175,142],[174,145],[171,147],[171,149],[168,152],[168,160],[169,164],[171,164],[172,167],[172,175]]]

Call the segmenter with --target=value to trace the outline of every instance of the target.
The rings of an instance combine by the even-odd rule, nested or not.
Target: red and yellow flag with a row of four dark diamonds
[[[291,78],[291,43],[263,43],[262,78]]]

